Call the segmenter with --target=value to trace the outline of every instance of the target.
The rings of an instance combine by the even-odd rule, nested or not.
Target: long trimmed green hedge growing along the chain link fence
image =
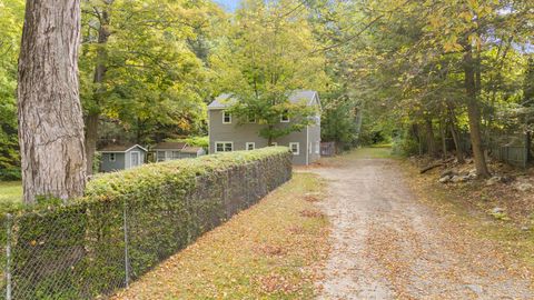
[[[73,204],[3,219],[13,299],[110,294],[290,177],[284,147],[99,176]]]

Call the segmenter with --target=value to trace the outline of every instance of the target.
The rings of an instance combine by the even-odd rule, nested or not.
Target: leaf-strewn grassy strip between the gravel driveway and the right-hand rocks
[[[442,216],[461,224],[469,234],[493,241],[501,252],[522,262],[523,267],[534,270],[534,232],[522,230],[515,223],[491,218],[477,206],[484,201],[479,192],[469,191],[468,187],[448,187],[437,183],[435,176],[419,174],[411,163],[405,162],[406,178],[412,190],[423,202],[434,208]]]

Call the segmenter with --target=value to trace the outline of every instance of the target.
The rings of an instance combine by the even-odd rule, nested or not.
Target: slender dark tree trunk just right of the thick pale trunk
[[[106,4],[111,4],[113,1],[105,1]],[[97,9],[97,8],[95,8]],[[95,67],[95,78],[93,83],[96,89],[93,91],[93,103],[89,108],[89,113],[86,118],[86,150],[87,150],[87,173],[92,174],[92,167],[95,160],[95,152],[97,151],[97,141],[98,141],[98,122],[100,119],[100,104],[102,93],[106,92],[106,89],[102,87],[103,78],[107,72],[106,60],[108,57],[106,43],[108,42],[110,32],[108,30],[109,26],[109,13],[108,9],[105,8],[100,13],[100,28],[98,29],[98,50],[97,50],[97,66]]]

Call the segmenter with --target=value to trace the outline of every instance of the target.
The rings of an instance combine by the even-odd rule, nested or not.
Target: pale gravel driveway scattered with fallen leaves
[[[338,162],[314,170],[333,222],[319,299],[534,299],[527,271],[418,202],[395,160]]]

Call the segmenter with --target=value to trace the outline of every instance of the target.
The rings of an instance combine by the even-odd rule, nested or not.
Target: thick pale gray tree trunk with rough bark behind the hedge
[[[19,58],[19,143],[24,202],[83,193],[78,91],[79,0],[28,0]]]

